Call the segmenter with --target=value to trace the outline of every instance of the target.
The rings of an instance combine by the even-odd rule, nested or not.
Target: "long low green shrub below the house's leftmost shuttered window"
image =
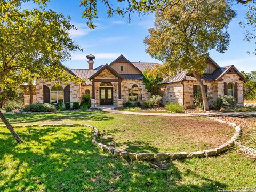
[[[49,103],[36,103],[26,106],[22,109],[24,112],[55,112],[56,107]]]

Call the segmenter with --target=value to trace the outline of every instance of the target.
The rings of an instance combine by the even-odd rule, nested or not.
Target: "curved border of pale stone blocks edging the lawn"
[[[14,128],[21,128],[21,127],[33,127],[33,126],[37,126],[37,127],[58,127],[58,126],[73,126],[73,127],[90,127],[93,129],[93,139],[92,139],[92,143],[94,145],[96,145],[98,148],[103,149],[103,151],[107,151],[109,153],[114,154],[114,156],[120,157],[120,158],[124,158],[124,159],[130,159],[131,161],[164,161],[164,160],[168,160],[168,159],[185,159],[185,158],[193,158],[193,157],[212,157],[212,156],[216,156],[219,155],[225,151],[227,151],[229,148],[233,147],[235,145],[235,141],[238,139],[239,135],[241,134],[241,127],[237,126],[235,123],[233,122],[226,122],[226,121],[222,121],[221,119],[215,118],[215,117],[208,117],[210,119],[213,119],[214,121],[220,122],[220,123],[224,123],[224,124],[228,124],[230,126],[233,126],[235,128],[235,133],[233,135],[233,137],[231,138],[231,140],[227,141],[226,143],[223,143],[221,146],[219,146],[218,148],[215,149],[208,149],[208,150],[203,150],[203,151],[194,151],[191,153],[187,153],[187,152],[178,152],[178,153],[157,153],[156,155],[154,155],[154,153],[131,153],[131,152],[127,152],[121,149],[116,149],[114,147],[110,147],[107,146],[105,144],[102,143],[98,143],[96,141],[97,136],[99,134],[99,130],[91,125],[87,125],[87,124],[44,124],[44,125],[16,125],[13,126]],[[1,125],[2,127],[4,127],[5,125]]]

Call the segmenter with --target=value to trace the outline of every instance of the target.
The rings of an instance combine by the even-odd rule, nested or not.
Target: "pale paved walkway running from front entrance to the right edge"
[[[148,112],[132,112],[118,111],[110,108],[103,108],[103,111],[116,114],[129,115],[149,115],[149,116],[228,116],[228,115],[256,115],[256,112],[207,112],[207,113],[148,113]]]

